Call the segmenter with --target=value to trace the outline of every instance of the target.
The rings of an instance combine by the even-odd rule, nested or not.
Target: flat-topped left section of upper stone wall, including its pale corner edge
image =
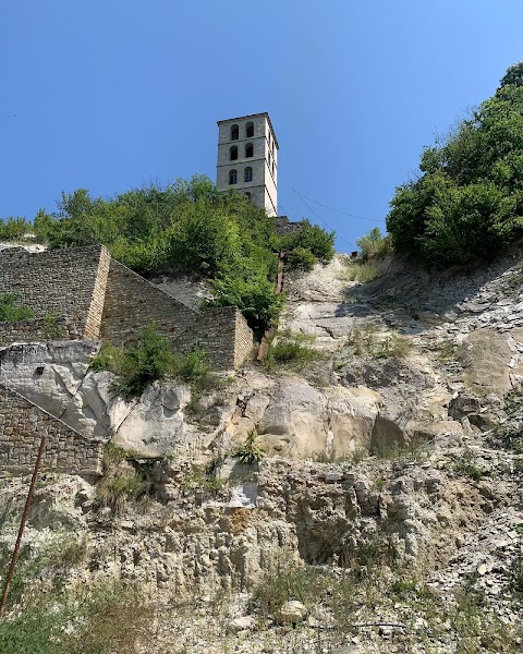
[[[52,314],[65,322],[73,338],[96,338],[109,258],[101,246],[39,253],[2,250],[0,293],[19,293],[21,302],[35,312],[35,318]]]

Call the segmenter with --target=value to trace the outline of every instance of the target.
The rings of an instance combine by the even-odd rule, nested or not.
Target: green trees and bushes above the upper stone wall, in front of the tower
[[[31,229],[32,228],[32,229]],[[304,221],[292,239],[277,234],[275,220],[239,193],[218,193],[204,175],[167,186],[150,184],[112,198],[86,189],[62,193],[58,211],[0,221],[0,235],[34,231],[51,249],[105,244],[112,256],[144,276],[172,270],[209,280],[212,305],[236,305],[255,331],[278,316],[273,293],[276,253],[299,250],[308,264],[332,258],[333,233]]]

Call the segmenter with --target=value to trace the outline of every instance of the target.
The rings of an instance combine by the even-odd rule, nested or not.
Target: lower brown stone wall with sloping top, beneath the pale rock
[[[101,440],[85,438],[58,417],[0,384],[0,469],[31,471],[41,436],[47,437],[42,470],[101,474]]]

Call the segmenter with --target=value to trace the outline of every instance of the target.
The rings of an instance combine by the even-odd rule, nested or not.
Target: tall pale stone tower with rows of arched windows
[[[269,114],[252,113],[218,121],[218,191],[244,193],[278,215],[278,141]]]

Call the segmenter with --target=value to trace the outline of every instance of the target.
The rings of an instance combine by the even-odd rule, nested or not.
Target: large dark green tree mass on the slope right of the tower
[[[425,266],[462,265],[518,240],[523,87],[502,84],[447,140],[425,148],[419,169],[419,179],[397,189],[387,217],[398,252]]]

